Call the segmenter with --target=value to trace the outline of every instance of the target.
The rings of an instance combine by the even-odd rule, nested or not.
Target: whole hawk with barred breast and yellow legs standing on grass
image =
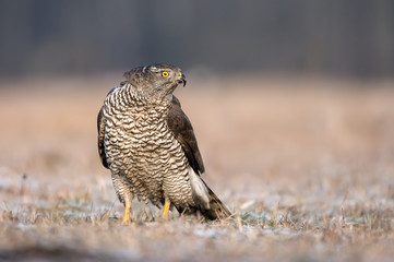
[[[230,212],[201,178],[204,164],[192,126],[172,92],[187,83],[170,64],[132,69],[98,112],[98,153],[130,224],[134,196],[181,214],[216,219]]]

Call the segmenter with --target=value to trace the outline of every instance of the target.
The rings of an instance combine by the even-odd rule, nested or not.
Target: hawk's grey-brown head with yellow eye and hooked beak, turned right
[[[182,71],[171,64],[158,63],[132,69],[123,74],[140,96],[148,100],[169,97],[179,84],[186,85]]]

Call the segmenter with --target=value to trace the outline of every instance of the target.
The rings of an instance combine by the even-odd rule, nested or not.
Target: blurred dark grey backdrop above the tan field
[[[0,76],[188,71],[394,74],[390,0],[0,1]]]

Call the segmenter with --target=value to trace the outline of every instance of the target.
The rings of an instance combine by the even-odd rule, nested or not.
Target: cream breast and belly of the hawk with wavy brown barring
[[[131,181],[138,195],[153,203],[169,198],[192,203],[189,163],[166,122],[166,107],[105,108],[105,153],[112,172]]]

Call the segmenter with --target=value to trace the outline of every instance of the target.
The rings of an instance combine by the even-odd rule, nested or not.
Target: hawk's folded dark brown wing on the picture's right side
[[[181,144],[190,166],[193,168],[195,174],[203,174],[205,168],[200,154],[199,145],[195,140],[193,128],[189,118],[181,109],[178,98],[175,96],[172,97],[172,103],[166,116],[166,121],[168,128]]]

